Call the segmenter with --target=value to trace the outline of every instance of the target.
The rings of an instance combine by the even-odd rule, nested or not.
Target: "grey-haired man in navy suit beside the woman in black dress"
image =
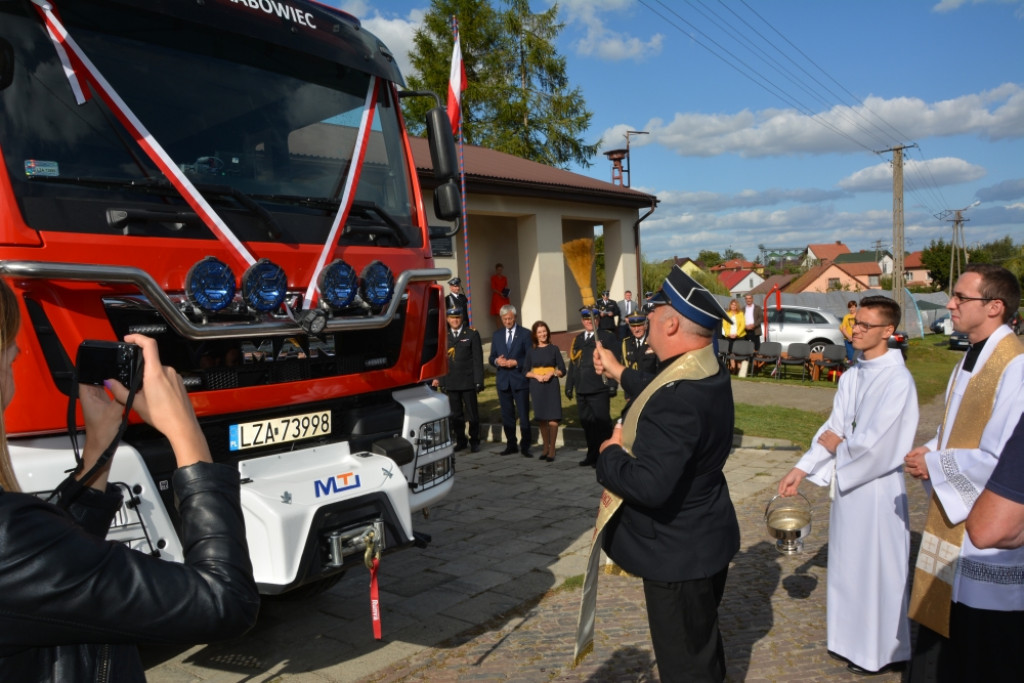
[[[515,419],[519,415],[519,451],[526,458],[532,458],[529,444],[534,434],[529,426],[529,380],[523,367],[529,349],[529,330],[516,325],[516,310],[512,304],[505,304],[498,314],[502,327],[490,339],[488,362],[498,369],[498,402],[502,407],[502,427],[505,430],[503,456],[516,452]]]

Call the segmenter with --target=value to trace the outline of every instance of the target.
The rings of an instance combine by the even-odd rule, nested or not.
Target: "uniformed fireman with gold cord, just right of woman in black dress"
[[[580,411],[580,426],[587,439],[587,457],[580,461],[580,467],[597,463],[601,442],[611,436],[611,396],[618,384],[594,372],[594,349],[600,341],[606,348],[617,352],[615,335],[608,330],[594,330],[594,321],[600,315],[596,309],[584,306],[580,309],[583,332],[572,339],[569,346],[569,368],[565,379],[565,397],[577,397]]]

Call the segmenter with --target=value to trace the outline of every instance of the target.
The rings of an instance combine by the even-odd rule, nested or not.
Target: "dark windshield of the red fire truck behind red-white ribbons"
[[[342,243],[422,245],[390,83],[223,30],[66,3],[71,37],[122,111],[98,96],[88,65],[66,73],[30,4],[0,4],[0,44],[13,63],[0,89],[0,145],[30,227],[116,233],[123,226],[112,211],[188,212],[123,123],[133,116],[242,240],[323,244],[350,186],[355,208]],[[84,103],[76,79],[91,95]],[[360,126],[365,158],[353,165]],[[132,233],[212,239],[189,220],[174,232],[151,221]]]

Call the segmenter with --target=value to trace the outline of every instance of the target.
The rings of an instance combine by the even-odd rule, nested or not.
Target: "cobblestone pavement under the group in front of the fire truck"
[[[830,395],[819,405],[829,403]],[[368,574],[353,569],[313,598],[264,601],[257,626],[237,641],[144,647],[148,680],[658,680],[642,586],[628,578],[601,578],[595,649],[570,668],[578,578],[600,495],[593,470],[577,466],[582,453],[563,447],[545,464],[500,450],[460,454],[454,493],[428,519],[417,517],[433,542],[384,556],[382,641],[371,632]],[[742,535],[721,607],[733,681],[859,678],[825,653],[827,493],[803,488],[814,506],[804,552],[783,556],[766,533],[765,506],[798,457],[784,443],[748,438],[726,468]],[[926,501],[916,482],[908,489],[911,528],[921,529]]]

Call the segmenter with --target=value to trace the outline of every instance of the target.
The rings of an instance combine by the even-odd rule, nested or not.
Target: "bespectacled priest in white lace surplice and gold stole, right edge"
[[[1024,345],[1007,325],[1020,297],[1015,274],[972,263],[946,304],[971,347],[949,378],[936,437],[905,458],[907,473],[930,484],[935,518],[941,512],[946,526],[933,525],[929,511],[910,600],[922,625],[911,682],[1022,680],[1024,548],[983,550],[963,532],[1024,411]]]

